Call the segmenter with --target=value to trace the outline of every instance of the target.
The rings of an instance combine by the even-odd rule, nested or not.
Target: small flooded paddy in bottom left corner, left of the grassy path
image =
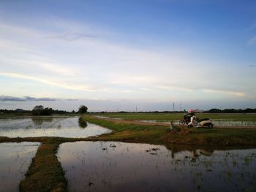
[[[38,142],[0,143],[0,191],[18,191]]]

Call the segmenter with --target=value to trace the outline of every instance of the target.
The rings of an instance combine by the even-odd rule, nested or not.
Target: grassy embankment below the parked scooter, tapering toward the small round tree
[[[95,140],[113,140],[121,142],[146,142],[162,145],[197,146],[256,146],[256,129],[242,128],[177,128],[167,131],[167,126],[135,125],[122,120],[83,116],[89,123],[105,126],[113,130],[94,138]]]

